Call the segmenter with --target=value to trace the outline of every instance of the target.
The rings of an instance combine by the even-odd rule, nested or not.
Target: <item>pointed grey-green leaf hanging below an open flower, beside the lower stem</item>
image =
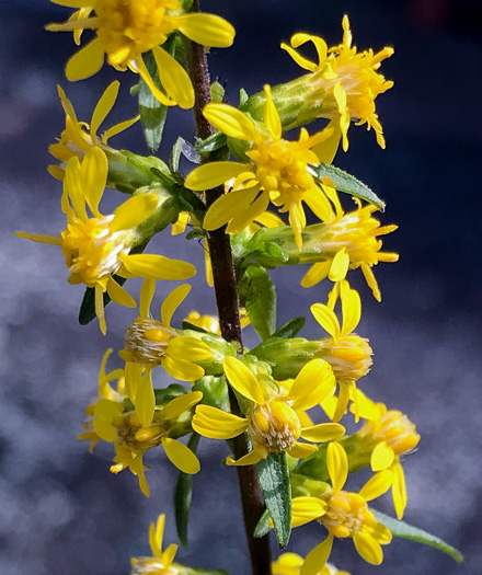
[[[269,453],[254,465],[254,470],[276,539],[279,547],[285,548],[291,534],[291,485],[286,453]]]

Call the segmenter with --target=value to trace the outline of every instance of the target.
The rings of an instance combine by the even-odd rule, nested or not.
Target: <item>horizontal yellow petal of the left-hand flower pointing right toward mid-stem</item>
[[[158,254],[130,254],[123,257],[127,272],[154,279],[188,279],[196,275],[193,264]]]

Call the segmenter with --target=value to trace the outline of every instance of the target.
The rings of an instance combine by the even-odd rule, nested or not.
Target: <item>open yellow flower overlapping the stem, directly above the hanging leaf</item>
[[[315,451],[310,444],[342,437],[345,428],[340,424],[319,424],[302,427],[297,411],[305,411],[328,396],[334,386],[330,366],[322,359],[308,363],[299,372],[289,393],[275,392],[263,384],[239,359],[226,357],[226,377],[234,390],[252,402],[246,417],[226,413],[210,405],[198,405],[193,417],[193,429],[211,439],[231,439],[248,430],[253,450],[238,461],[228,458],[230,465],[251,465],[269,452],[287,451],[292,457],[306,457]]]

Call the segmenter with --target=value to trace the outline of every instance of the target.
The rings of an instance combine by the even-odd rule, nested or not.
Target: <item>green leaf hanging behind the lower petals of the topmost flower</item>
[[[169,54],[174,56],[175,34],[173,34],[162,47]],[[152,51],[147,51],[142,57],[154,84],[162,89]],[[157,97],[154,97],[142,79],[139,81],[138,100],[140,122],[142,123],[146,143],[151,152],[156,152],[161,145],[162,133],[168,116],[168,106],[164,106],[159,100],[157,100]]]

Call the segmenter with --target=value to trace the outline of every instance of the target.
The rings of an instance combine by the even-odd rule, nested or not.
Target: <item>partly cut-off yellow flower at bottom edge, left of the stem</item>
[[[164,536],[165,515],[161,514],[154,524],[149,526],[149,545],[152,551],[151,557],[133,557],[130,560],[130,575],[175,575],[177,570],[174,561],[177,545],[174,543],[162,551],[162,539]]]

